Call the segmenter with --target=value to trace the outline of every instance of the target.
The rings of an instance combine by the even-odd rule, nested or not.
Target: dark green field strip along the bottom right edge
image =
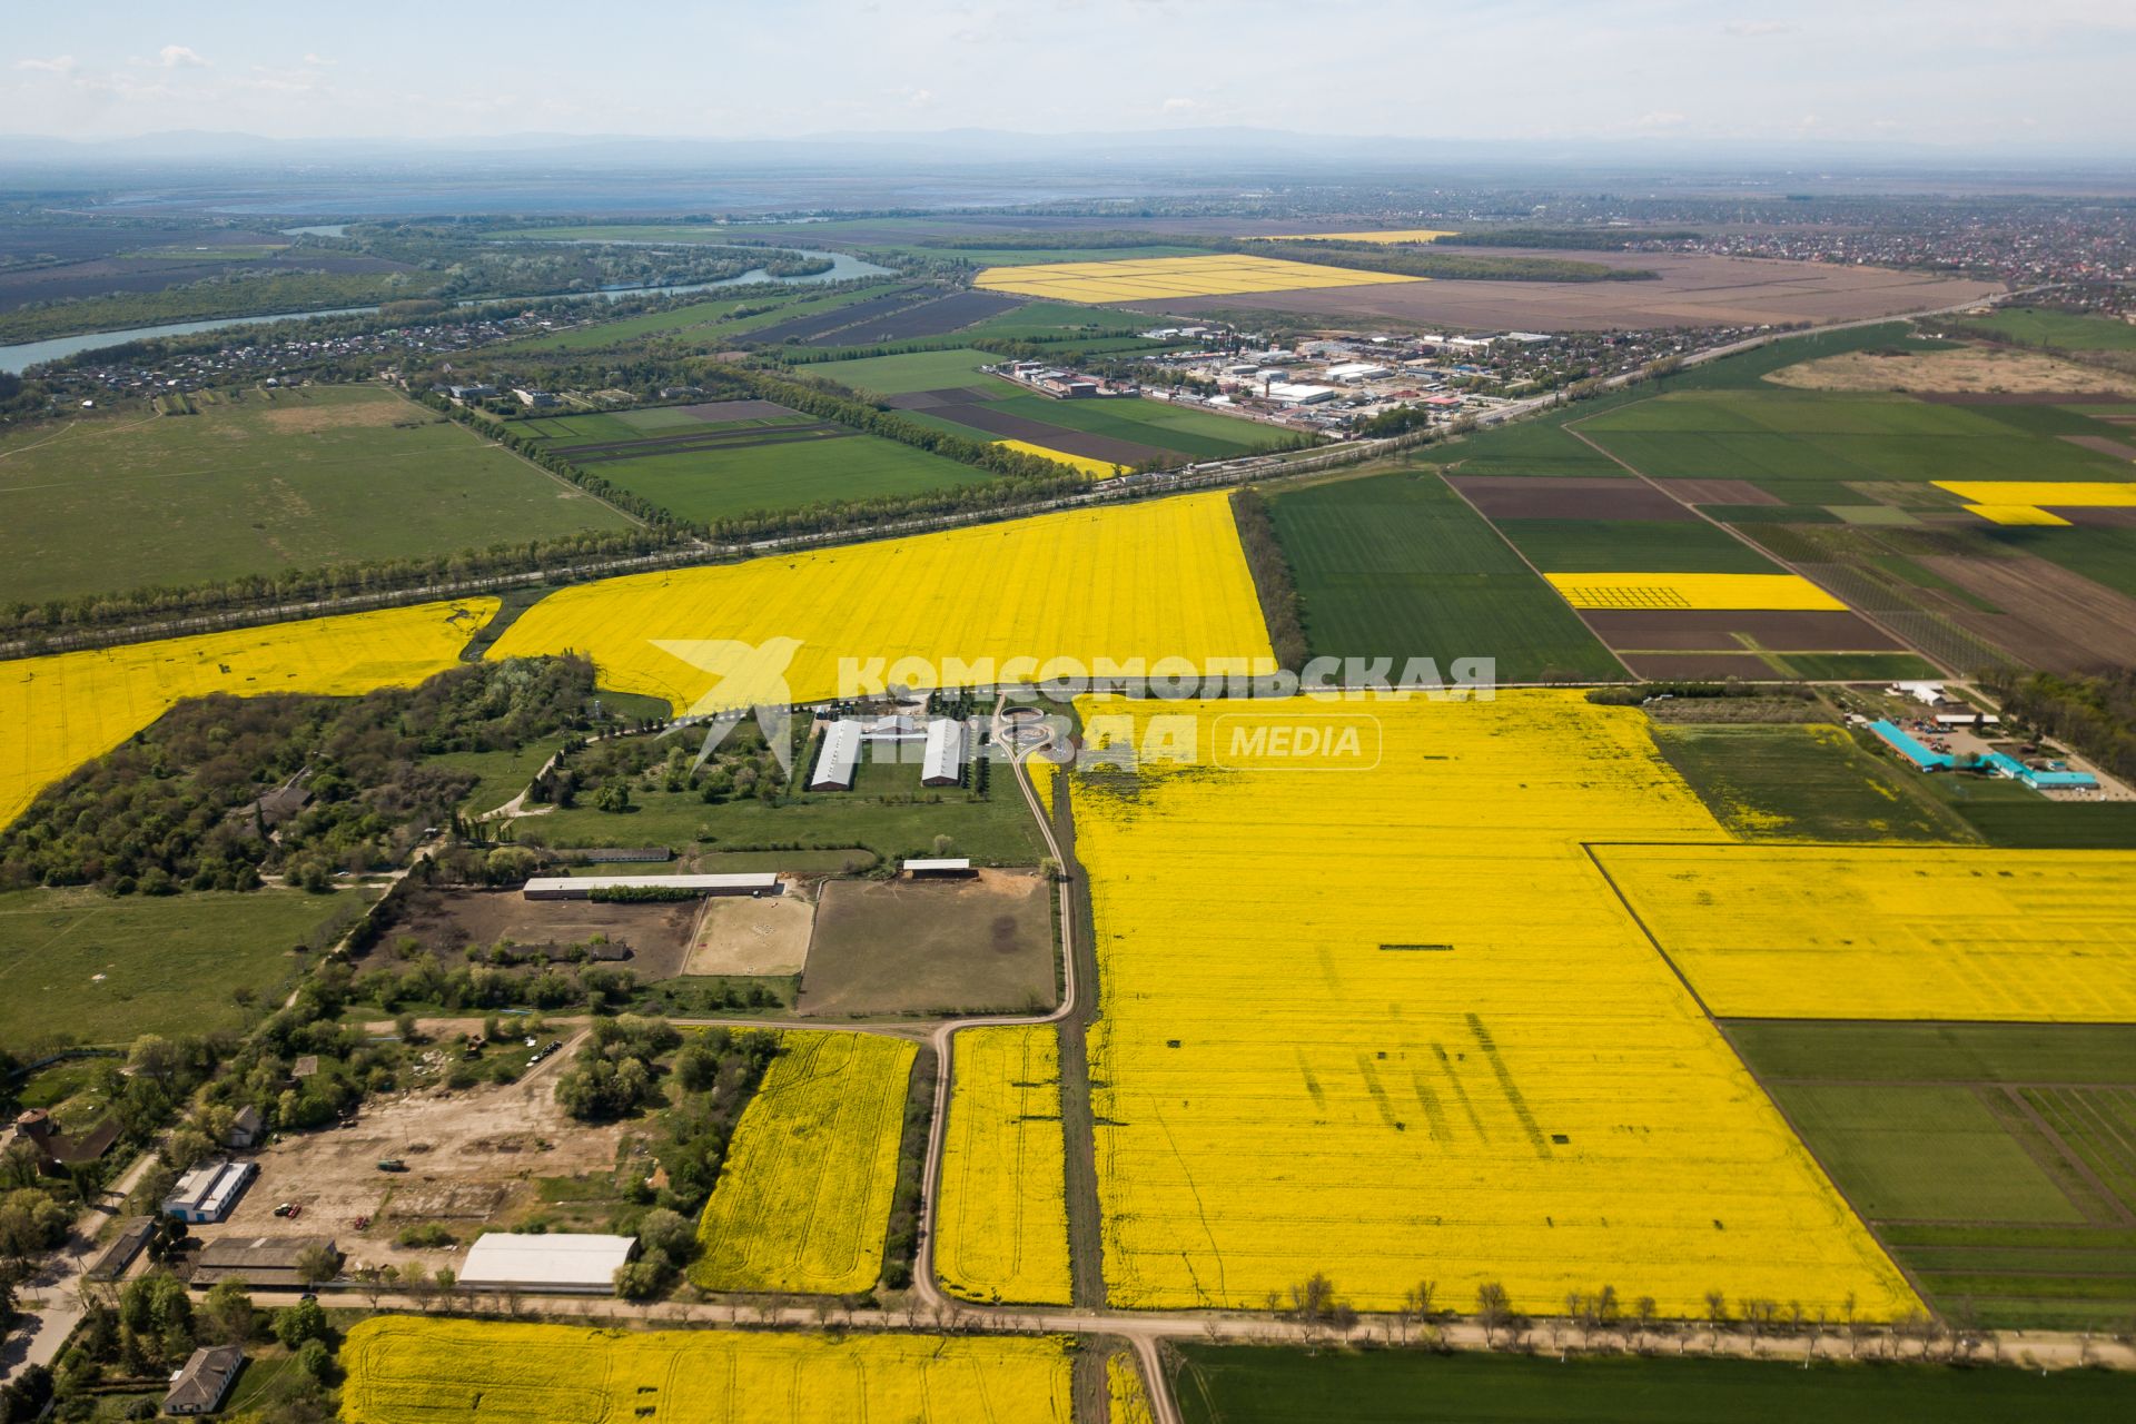
[[[1337,1283],[1339,1287],[1339,1283]],[[1188,1424],[2021,1424],[2110,1420],[2106,1371],[1179,1345]]]

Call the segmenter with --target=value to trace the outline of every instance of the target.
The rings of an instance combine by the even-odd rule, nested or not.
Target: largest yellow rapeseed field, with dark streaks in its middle
[[[1369,775],[1218,745],[1297,707],[1083,702],[1091,745],[1181,711],[1203,743],[1072,773],[1113,1304],[1252,1309],[1316,1270],[1361,1309],[1420,1279],[1549,1313],[1604,1283],[1670,1315],[1918,1304],[1583,845],[1724,839],[1638,709],[1346,707]]]

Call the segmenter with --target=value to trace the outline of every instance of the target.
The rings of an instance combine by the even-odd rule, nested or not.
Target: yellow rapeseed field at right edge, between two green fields
[[[2136,852],[1604,845],[1726,1018],[2136,1020]]]

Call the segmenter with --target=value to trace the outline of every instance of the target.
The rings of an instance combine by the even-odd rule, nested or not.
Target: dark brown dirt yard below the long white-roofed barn
[[[594,901],[530,901],[519,890],[423,890],[408,899],[399,922],[387,931],[387,944],[414,937],[446,963],[470,944],[491,946],[511,939],[521,946],[587,944],[607,935],[609,944],[628,944],[639,980],[671,980],[681,974],[696,929],[701,901],[669,903],[594,903]]]

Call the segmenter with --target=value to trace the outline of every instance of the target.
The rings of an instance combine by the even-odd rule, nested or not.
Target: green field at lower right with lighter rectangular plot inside
[[[1946,1317],[2066,1330],[2136,1317],[2136,1035],[2125,1027],[1726,1029]]]

